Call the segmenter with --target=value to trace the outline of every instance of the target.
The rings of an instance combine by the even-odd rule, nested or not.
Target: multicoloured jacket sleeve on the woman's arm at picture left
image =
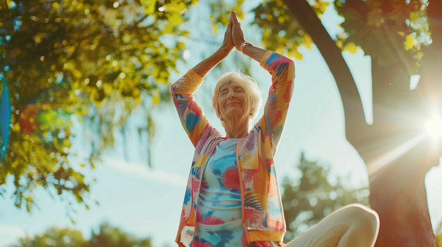
[[[212,128],[194,97],[194,93],[203,81],[204,79],[195,71],[189,69],[171,86],[172,100],[179,119],[194,147],[197,146],[201,136]]]

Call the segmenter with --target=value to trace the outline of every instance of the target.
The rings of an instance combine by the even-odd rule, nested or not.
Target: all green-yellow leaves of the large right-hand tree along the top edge
[[[391,63],[391,57],[396,57],[392,55],[405,56],[410,64],[414,64],[408,68],[410,75],[414,75],[419,68],[419,60],[423,56],[421,46],[431,44],[426,15],[428,0],[308,2],[320,19],[330,4],[334,4],[338,14],[345,18],[339,25],[343,32],[333,37],[342,51],[354,53],[361,47],[366,55],[377,59],[381,65]],[[225,25],[229,19],[222,16],[228,16],[230,9],[240,8],[242,3],[239,1],[234,6],[212,4],[213,20]],[[311,48],[311,37],[293,17],[283,0],[264,0],[252,12],[255,19],[251,24],[257,24],[263,29],[263,45],[266,49],[301,60],[302,54],[298,48],[301,45]],[[238,16],[241,18],[244,12],[240,11]],[[213,25],[216,26],[216,23]],[[373,45],[377,43],[384,45]]]

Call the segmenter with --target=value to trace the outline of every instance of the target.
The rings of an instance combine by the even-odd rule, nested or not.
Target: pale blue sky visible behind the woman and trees
[[[246,2],[248,8],[256,4],[253,1]],[[170,82],[179,79],[187,70],[218,49],[216,45],[201,42],[202,38],[207,37],[220,44],[222,42],[224,30],[220,30],[217,35],[211,34],[210,23],[206,21],[209,19],[209,11],[205,3],[205,0],[201,0],[198,6],[190,9],[191,20],[188,25],[192,39],[187,41],[190,57],[186,64],[179,64],[179,73],[172,73]],[[246,20],[241,21],[244,36],[251,44],[262,47],[259,29],[245,25],[251,18],[253,15],[248,14]],[[322,22],[330,34],[339,33],[337,23],[342,22],[342,19],[335,14],[333,8],[328,8]],[[194,30],[197,24],[198,30]],[[310,50],[301,48],[301,53],[304,55],[303,60],[292,58],[295,61],[296,79],[286,127],[275,158],[278,182],[282,184],[284,176],[299,179],[300,174],[296,172],[295,165],[301,151],[304,151],[308,159],[331,166],[331,182],[334,182],[334,176],[349,175],[344,181],[347,187],[366,186],[366,167],[356,150],[345,139],[343,106],[335,81],[315,45]],[[366,117],[370,122],[370,57],[359,51],[356,54],[344,53],[344,58],[350,64],[351,72],[358,83]],[[210,106],[210,98],[219,75],[225,71],[234,71],[240,60],[251,61],[251,76],[257,79],[264,101],[271,83],[271,76],[267,71],[255,60],[238,51],[226,58],[220,70],[213,70],[206,76],[195,98],[210,123],[222,133],[225,132]],[[260,112],[259,116],[263,109]],[[172,103],[155,109],[153,116],[157,123],[155,145],[152,147],[153,168],[148,168],[145,162],[145,138],[137,135],[137,127],[146,124],[145,115],[141,110],[136,110],[126,125],[127,146],[122,146],[122,136],[115,133],[115,148],[103,153],[103,164],[97,165],[95,170],[83,168],[87,179],[97,179],[91,186],[91,197],[98,200],[100,205],[91,203],[90,210],[85,210],[84,206],[74,206],[77,211],[74,214],[76,224],[72,224],[65,214],[65,202],[59,198],[53,200],[41,188],[34,191],[39,209],[35,208],[32,214],[16,209],[9,196],[0,198],[0,247],[14,243],[19,236],[38,234],[52,226],[79,229],[87,238],[91,230],[97,230],[103,221],[137,236],[152,236],[155,247],[166,244],[175,246],[194,148]],[[257,120],[258,118],[255,119]],[[81,124],[75,124],[75,128],[77,133],[84,133],[84,126]],[[88,146],[85,145],[88,140],[82,135],[72,142],[72,150],[80,151]],[[128,152],[128,161],[124,160],[124,149]],[[87,150],[83,153],[87,153]],[[81,155],[72,157],[71,164],[80,164],[82,158],[84,157]],[[10,178],[6,187],[8,195],[12,193],[11,181]],[[425,182],[434,228],[442,220],[442,195],[436,189],[442,187],[441,165],[431,169]]]

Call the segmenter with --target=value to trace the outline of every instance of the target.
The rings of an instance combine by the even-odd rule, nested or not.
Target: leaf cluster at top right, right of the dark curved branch
[[[358,45],[381,65],[400,56],[415,65],[408,71],[414,75],[423,56],[421,46],[431,44],[427,5],[427,0],[336,0],[336,10],[345,18],[341,24],[345,32],[337,44]]]

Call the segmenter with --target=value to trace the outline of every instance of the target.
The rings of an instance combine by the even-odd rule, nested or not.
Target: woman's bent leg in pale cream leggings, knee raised
[[[330,213],[286,247],[373,247],[378,232],[376,211],[352,203]]]

